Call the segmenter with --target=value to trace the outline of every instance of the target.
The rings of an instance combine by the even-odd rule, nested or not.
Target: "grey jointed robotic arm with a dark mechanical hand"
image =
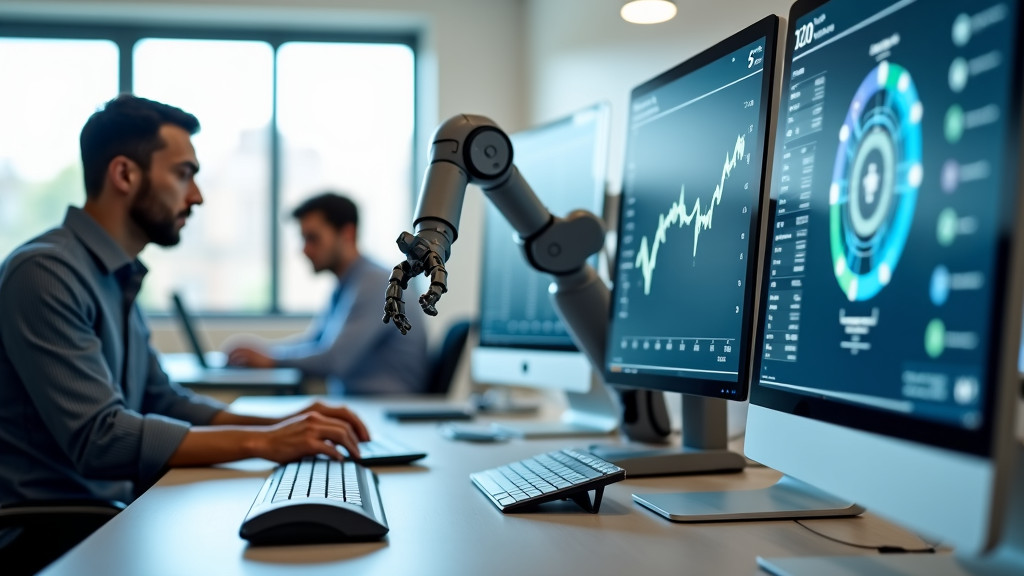
[[[459,217],[466,187],[480,187],[518,234],[526,260],[551,274],[555,310],[569,335],[600,373],[604,368],[610,292],[587,258],[604,244],[604,225],[594,214],[575,210],[564,218],[551,214],[512,163],[512,142],[492,120],[458,115],[434,132],[426,177],[413,222],[398,248],[406,260],[394,266],[384,302],[384,323],[407,333],[412,326],[402,300],[409,281],[420,274],[430,287],[420,296],[423,311],[436,316],[447,291],[444,262],[459,237]],[[660,442],[669,435],[664,397],[622,393],[624,430],[633,440]],[[637,415],[649,415],[637,418]]]

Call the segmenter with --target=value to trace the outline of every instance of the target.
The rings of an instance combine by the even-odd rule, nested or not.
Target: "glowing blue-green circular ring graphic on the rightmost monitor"
[[[885,288],[903,253],[923,175],[923,112],[910,73],[884,61],[860,83],[840,129],[828,229],[850,301]]]

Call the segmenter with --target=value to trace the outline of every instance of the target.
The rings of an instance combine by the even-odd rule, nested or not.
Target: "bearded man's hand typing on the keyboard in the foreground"
[[[348,421],[319,412],[298,414],[264,430],[257,437],[254,453],[274,462],[291,462],[315,454],[342,458],[343,454],[335,445],[344,446],[353,457],[359,456],[361,437],[355,427]],[[365,435],[365,426],[362,430]]]

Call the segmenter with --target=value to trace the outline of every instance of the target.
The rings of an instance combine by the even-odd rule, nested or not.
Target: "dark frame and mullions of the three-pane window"
[[[273,74],[271,82],[271,100],[273,108],[270,114],[270,306],[261,313],[232,313],[216,312],[210,313],[202,308],[197,310],[196,315],[211,319],[236,319],[236,318],[261,318],[261,317],[308,317],[305,313],[286,313],[281,307],[281,283],[282,265],[279,260],[281,248],[281,133],[278,129],[278,50],[287,42],[335,42],[335,43],[355,43],[355,44],[401,44],[408,46],[413,52],[413,150],[411,154],[412,166],[410,167],[410,190],[412,196],[409,201],[415,205],[417,196],[416,167],[419,166],[421,153],[416,146],[419,141],[418,122],[416,117],[419,112],[419,35],[412,32],[389,32],[373,31],[359,32],[353,30],[326,30],[306,28],[266,28],[266,27],[225,27],[225,26],[199,26],[199,25],[122,25],[103,23],[70,23],[60,20],[41,19],[17,19],[5,18],[0,23],[0,37],[3,38],[40,38],[52,40],[108,40],[118,46],[118,92],[131,92],[134,84],[133,75],[133,48],[136,42],[147,38],[159,39],[181,39],[181,40],[248,40],[266,42],[273,51]],[[115,94],[112,94],[113,97]],[[154,317],[171,316],[171,311],[150,312],[147,315]]]

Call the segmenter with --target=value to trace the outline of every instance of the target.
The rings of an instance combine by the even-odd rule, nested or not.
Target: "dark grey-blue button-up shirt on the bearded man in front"
[[[75,207],[0,264],[0,503],[131,501],[224,408],[160,368],[134,303],[144,275]]]

